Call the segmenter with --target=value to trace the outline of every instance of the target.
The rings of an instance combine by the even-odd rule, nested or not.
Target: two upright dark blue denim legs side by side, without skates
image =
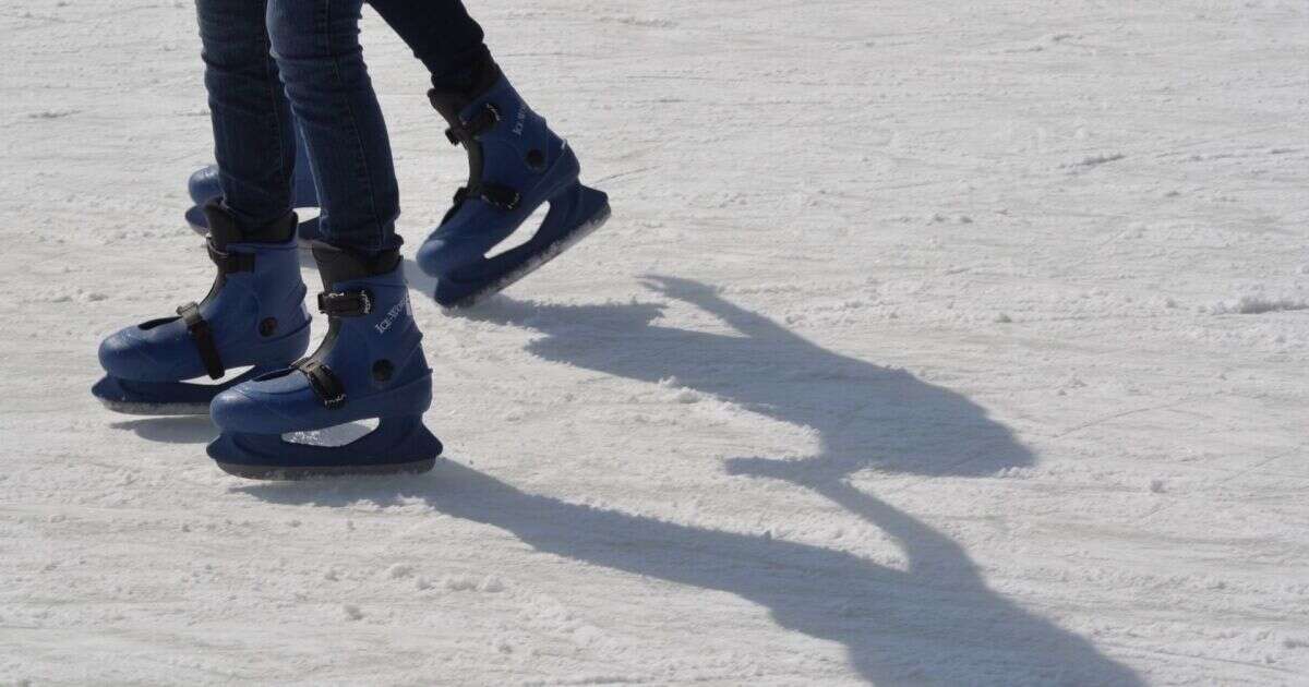
[[[325,238],[363,253],[399,247],[390,140],[359,44],[361,5],[196,0],[219,182],[238,222],[262,226],[291,211],[295,113]]]

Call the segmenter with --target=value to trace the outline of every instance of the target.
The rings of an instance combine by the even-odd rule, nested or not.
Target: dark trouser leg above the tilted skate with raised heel
[[[463,90],[475,81],[476,65],[490,54],[482,26],[461,0],[369,0],[432,73],[441,90]]]

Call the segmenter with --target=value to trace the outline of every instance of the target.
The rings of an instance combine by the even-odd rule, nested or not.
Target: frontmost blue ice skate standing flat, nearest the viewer
[[[432,404],[427,366],[398,251],[364,259],[314,243],[330,318],[323,343],[292,366],[213,399],[223,433],[209,444],[219,467],[250,479],[425,472],[441,442],[423,425]],[[380,420],[343,446],[296,438],[361,420]]]

